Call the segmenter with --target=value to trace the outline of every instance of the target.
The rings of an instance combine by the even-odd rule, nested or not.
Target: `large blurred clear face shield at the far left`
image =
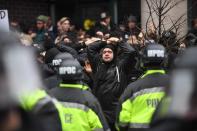
[[[11,46],[4,53],[10,91],[20,98],[43,87],[34,53],[23,46]]]

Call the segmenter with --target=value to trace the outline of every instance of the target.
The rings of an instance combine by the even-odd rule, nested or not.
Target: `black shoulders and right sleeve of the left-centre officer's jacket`
[[[90,91],[74,87],[75,85],[78,86],[81,84],[69,84],[73,87],[66,87],[66,84],[62,85],[63,86],[61,87],[51,89],[49,94],[54,96],[60,103],[68,102],[87,106],[97,114],[104,131],[109,131],[109,127],[103,115],[100,104]],[[81,86],[83,87],[83,85]]]

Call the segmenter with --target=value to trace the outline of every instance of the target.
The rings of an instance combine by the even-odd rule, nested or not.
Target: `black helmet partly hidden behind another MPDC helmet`
[[[67,59],[74,59],[74,57],[70,53],[66,52],[57,54],[52,61],[53,68],[59,67],[61,62]]]

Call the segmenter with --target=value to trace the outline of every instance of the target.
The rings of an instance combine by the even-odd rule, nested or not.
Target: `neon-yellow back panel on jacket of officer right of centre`
[[[133,128],[139,126],[142,126],[140,128],[146,128],[164,94],[162,87],[136,92],[131,98],[122,103],[118,125],[130,126],[130,123],[134,123]],[[125,125],[122,125],[122,123]],[[144,123],[146,125],[143,125]]]

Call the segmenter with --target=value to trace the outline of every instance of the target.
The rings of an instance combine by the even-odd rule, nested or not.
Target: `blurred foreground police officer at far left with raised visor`
[[[43,85],[33,51],[20,45],[15,35],[1,30],[0,41],[0,103],[8,104],[5,108],[0,104],[0,129],[63,131],[60,118],[64,114],[59,114],[60,104],[39,88]],[[7,93],[4,91],[11,95],[4,97]],[[18,103],[13,103],[15,100]],[[34,116],[36,120],[32,121]]]

